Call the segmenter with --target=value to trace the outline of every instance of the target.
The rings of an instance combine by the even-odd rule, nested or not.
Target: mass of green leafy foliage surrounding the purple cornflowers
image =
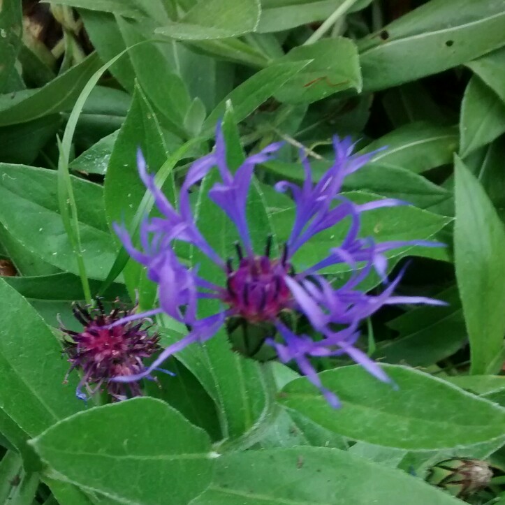
[[[440,460],[504,474],[504,1],[3,0],[0,92],[0,501],[449,505],[462,502],[423,481]],[[85,405],[77,374],[61,386],[57,314],[77,330],[72,301],[156,303],[111,229],[133,232],[152,208],[136,149],[175,202],[220,119],[233,166],[286,141],[256,173],[255,244],[288,236],[293,203],[272,185],[302,180],[300,146],[316,179],[335,133],[388,147],[346,195],[413,205],[369,212],[363,235],[447,244],[398,249],[389,271],[409,256],[402,292],[449,305],[380,312],[360,342],[399,390],[323,363],[334,411],[292,369],[230,351],[224,331],[170,360],[175,378],[147,397]],[[210,184],[198,223],[226,256]],[[295,267],[345,233],[315,237]],[[164,345],[186,332],[157,323]],[[500,482],[466,498],[504,504]]]

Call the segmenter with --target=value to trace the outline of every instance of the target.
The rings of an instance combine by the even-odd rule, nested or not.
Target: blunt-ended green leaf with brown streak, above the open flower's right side
[[[327,38],[291,50],[286,61],[310,61],[284,84],[275,98],[284,103],[312,103],[344,89],[361,91],[361,72],[356,45],[349,38]]]

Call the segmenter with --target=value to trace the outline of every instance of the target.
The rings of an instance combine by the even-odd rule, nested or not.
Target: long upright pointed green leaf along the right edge
[[[471,373],[488,374],[505,333],[505,230],[488,196],[455,158],[456,279],[470,339]]]

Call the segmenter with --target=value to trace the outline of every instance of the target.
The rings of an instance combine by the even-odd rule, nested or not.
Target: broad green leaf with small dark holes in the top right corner
[[[429,1],[360,41],[363,89],[393,87],[464,64],[502,46],[504,31],[501,2]]]

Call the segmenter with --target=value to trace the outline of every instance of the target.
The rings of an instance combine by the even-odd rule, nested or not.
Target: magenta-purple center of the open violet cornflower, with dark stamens
[[[238,316],[250,323],[272,321],[279,312],[289,307],[291,292],[284,280],[290,275],[291,264],[286,261],[286,248],[280,259],[270,259],[272,238],[269,237],[263,256],[245,256],[237,244],[239,265],[233,270],[228,260],[226,298]]]

